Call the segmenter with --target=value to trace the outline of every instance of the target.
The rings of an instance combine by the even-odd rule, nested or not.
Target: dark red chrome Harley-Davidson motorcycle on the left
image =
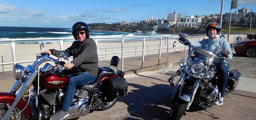
[[[44,47],[44,43],[40,49],[41,46]],[[38,120],[48,119],[61,109],[70,77],[62,72],[65,62],[59,61],[60,58],[69,61],[64,52],[56,60],[41,49],[41,55],[32,65],[14,65],[16,82],[11,92],[0,92],[1,120],[26,120],[32,116],[38,116]],[[95,110],[107,110],[116,104],[120,96],[126,96],[128,84],[123,78],[124,72],[117,68],[118,62],[117,56],[113,56],[110,62],[110,66],[116,67],[116,73],[110,66],[99,67],[93,83],[76,88],[67,119],[86,116]],[[39,68],[41,64],[44,66]],[[30,96],[27,101],[24,95]]]

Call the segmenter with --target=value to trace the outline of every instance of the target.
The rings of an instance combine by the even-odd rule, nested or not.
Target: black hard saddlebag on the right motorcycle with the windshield
[[[239,83],[241,73],[238,70],[230,70],[227,73],[227,86],[226,89],[230,92],[235,90],[236,86]]]

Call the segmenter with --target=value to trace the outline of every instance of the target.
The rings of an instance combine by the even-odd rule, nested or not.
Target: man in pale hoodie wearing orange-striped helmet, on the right
[[[202,41],[190,41],[192,46],[200,47],[207,51],[216,51],[215,53],[220,53],[223,49],[229,50],[230,54],[224,56],[227,59],[232,59],[232,50],[224,36],[220,35],[220,25],[217,22],[210,22],[206,26],[206,35],[209,39]],[[185,39],[179,38],[179,40],[185,41]],[[220,101],[215,102],[217,105],[223,104],[224,93],[227,85],[227,61],[225,59],[220,59],[217,64],[217,74],[219,75],[218,90],[221,94]]]

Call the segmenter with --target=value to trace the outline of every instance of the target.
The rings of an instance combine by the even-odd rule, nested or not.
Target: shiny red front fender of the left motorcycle
[[[8,107],[11,107],[12,103],[15,101],[16,95],[10,92],[0,92],[0,103],[6,103]],[[20,102],[16,105],[21,109],[24,109],[27,105],[27,102],[24,99],[21,99]],[[27,118],[31,115],[31,109],[29,105],[24,109],[24,114]]]

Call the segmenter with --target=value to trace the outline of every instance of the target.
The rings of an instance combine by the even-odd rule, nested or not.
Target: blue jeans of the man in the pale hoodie
[[[224,97],[227,86],[227,66],[224,63],[217,64],[217,74],[219,76],[218,90],[221,93],[221,98]]]

